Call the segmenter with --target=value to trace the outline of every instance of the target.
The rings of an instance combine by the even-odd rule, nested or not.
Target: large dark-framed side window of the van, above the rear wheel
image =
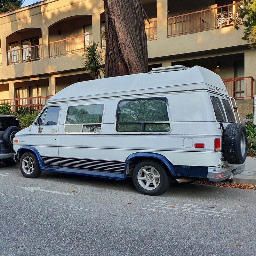
[[[123,100],[116,116],[117,132],[169,132],[165,99]]]

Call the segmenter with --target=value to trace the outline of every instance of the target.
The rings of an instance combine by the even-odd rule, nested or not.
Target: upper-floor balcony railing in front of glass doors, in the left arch
[[[42,44],[8,51],[7,57],[8,65],[15,65],[35,60],[42,60]]]

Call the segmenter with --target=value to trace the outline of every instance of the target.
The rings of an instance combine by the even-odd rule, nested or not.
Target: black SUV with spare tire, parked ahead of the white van
[[[0,161],[4,164],[15,164],[12,140],[19,131],[18,116],[0,115]]]

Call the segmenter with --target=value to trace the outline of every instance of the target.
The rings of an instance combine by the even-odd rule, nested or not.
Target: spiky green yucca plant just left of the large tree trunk
[[[99,42],[92,42],[88,44],[86,52],[83,54],[84,56],[84,69],[90,72],[90,75],[93,79],[98,79],[100,76],[100,71],[103,73],[104,68],[101,68],[103,65],[105,58],[102,55],[103,50],[100,48]]]

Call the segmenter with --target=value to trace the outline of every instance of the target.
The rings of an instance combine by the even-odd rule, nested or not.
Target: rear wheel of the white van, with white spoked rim
[[[170,174],[155,161],[141,161],[133,170],[132,180],[140,193],[149,196],[163,194],[171,184]]]

